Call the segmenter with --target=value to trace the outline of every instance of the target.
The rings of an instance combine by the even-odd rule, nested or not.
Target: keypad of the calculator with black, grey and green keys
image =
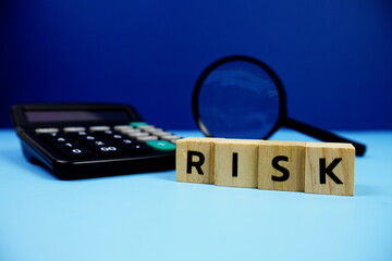
[[[173,151],[175,140],[181,138],[145,123],[118,126],[71,126],[63,129],[38,128],[36,134],[50,147],[73,159],[135,157]]]

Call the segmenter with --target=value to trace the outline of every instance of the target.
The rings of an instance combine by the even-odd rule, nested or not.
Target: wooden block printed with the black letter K
[[[353,196],[354,166],[353,145],[307,142],[305,192]]]

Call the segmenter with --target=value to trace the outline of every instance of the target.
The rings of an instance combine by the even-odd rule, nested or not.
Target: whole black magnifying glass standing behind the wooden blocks
[[[357,156],[366,146],[287,116],[286,96],[277,74],[261,61],[244,55],[210,64],[196,82],[193,114],[208,137],[268,139],[280,127],[328,142],[348,142]]]

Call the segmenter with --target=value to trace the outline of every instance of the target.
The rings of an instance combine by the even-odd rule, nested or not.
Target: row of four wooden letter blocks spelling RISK
[[[310,194],[354,195],[351,144],[184,138],[176,181]]]

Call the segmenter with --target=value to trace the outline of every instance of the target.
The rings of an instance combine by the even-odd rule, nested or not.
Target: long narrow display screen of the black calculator
[[[26,111],[30,123],[38,122],[95,122],[128,121],[130,115],[123,111]]]

